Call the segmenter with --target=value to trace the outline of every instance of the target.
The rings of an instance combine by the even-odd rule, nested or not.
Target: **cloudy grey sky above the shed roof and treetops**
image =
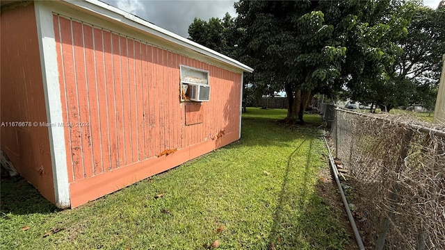
[[[102,0],[172,33],[188,38],[188,26],[195,17],[208,21],[211,17],[223,18],[226,12],[234,17],[235,1],[230,0]],[[358,1],[358,0],[357,0]],[[440,0],[423,0],[423,4],[437,8]]]

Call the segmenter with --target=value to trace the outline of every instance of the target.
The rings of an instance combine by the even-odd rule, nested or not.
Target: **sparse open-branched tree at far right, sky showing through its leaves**
[[[403,54],[389,69],[393,81],[410,81],[414,90],[405,105],[420,104],[434,109],[445,51],[445,6],[437,10],[414,6],[408,33],[400,42]]]

